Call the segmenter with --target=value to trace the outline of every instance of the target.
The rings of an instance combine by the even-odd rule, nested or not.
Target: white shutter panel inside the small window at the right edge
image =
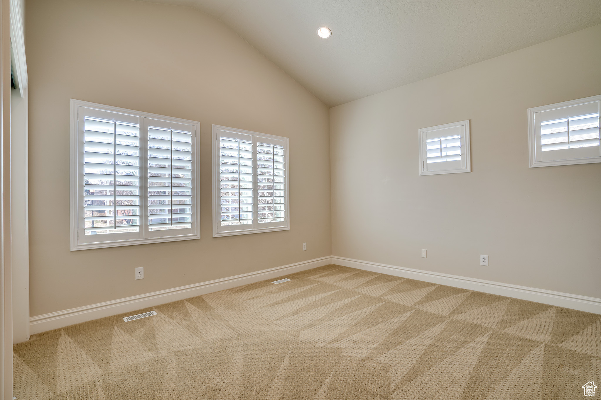
[[[599,157],[599,101],[534,113],[537,161]]]

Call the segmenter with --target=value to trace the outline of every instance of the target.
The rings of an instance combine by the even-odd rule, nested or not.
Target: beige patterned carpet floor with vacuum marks
[[[568,400],[601,387],[601,315],[334,265],[287,277],[34,335],[14,346],[14,395]]]

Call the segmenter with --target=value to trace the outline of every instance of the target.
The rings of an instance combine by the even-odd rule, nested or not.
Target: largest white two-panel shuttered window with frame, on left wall
[[[71,249],[198,239],[199,129],[71,100]]]

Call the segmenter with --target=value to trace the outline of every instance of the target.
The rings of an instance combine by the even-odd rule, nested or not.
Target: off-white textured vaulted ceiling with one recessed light
[[[601,0],[148,1],[221,20],[328,106],[601,23]]]

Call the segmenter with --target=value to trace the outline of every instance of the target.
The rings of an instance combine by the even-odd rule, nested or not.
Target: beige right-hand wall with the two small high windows
[[[601,297],[601,164],[528,168],[526,125],[599,94],[601,25],[332,108],[333,254]],[[418,176],[418,129],[465,119],[472,172]]]

